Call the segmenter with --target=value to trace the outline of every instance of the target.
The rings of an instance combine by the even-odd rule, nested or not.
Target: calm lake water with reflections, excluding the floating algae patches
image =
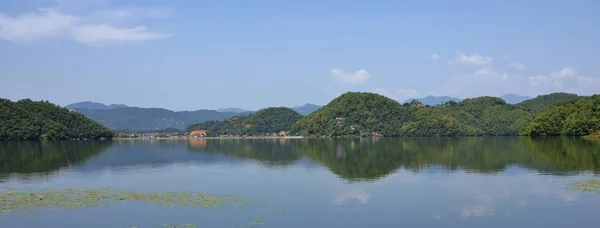
[[[0,227],[596,227],[600,144],[579,138],[0,142],[0,191],[251,198],[0,215]],[[261,224],[264,223],[264,224]]]

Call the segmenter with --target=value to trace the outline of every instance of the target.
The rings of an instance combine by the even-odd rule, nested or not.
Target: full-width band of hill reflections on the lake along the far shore
[[[378,179],[398,169],[495,173],[516,165],[554,175],[600,171],[600,146],[566,137],[8,142],[0,143],[0,158],[1,174],[70,166],[92,172],[180,163],[235,165],[244,160],[267,167],[317,163],[347,180]]]

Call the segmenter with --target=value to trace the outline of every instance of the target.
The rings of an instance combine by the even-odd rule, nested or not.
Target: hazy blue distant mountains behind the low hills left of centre
[[[136,108],[121,104],[105,105],[98,102],[79,102],[69,104],[77,112],[97,121],[113,130],[153,131],[166,128],[185,129],[188,125],[208,120],[225,120],[238,115],[250,115],[256,111],[240,108],[219,110],[196,110],[175,112],[161,108]],[[292,109],[308,115],[321,108],[314,104],[305,104]]]

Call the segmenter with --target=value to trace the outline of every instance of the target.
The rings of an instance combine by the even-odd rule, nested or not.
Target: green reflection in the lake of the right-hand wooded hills
[[[349,180],[377,179],[405,168],[438,166],[476,173],[518,165],[539,172],[600,171],[600,147],[580,138],[405,138],[299,141],[295,152]]]

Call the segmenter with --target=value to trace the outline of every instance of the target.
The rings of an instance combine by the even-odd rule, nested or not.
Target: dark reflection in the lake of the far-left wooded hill
[[[0,143],[0,174],[44,174],[76,167],[102,153],[110,142],[41,141]]]

